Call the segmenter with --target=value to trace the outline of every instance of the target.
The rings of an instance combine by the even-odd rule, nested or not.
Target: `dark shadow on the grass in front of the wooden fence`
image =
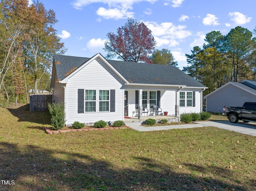
[[[29,104],[18,108],[7,108],[9,112],[18,118],[18,122],[33,122],[38,124],[50,124],[51,115],[49,111],[30,112]]]

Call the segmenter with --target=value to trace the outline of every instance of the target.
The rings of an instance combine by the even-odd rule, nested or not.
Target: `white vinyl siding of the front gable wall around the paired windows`
[[[116,121],[124,120],[124,90],[123,81],[110,69],[106,63],[97,58],[84,66],[80,71],[68,79],[67,84],[67,113],[66,124],[72,125],[74,121],[93,123],[98,120]],[[100,90],[115,89],[115,112],[78,113],[78,89],[96,90],[96,99],[99,99],[97,92]],[[110,92],[110,91],[109,91]],[[97,105],[98,102],[96,102]]]

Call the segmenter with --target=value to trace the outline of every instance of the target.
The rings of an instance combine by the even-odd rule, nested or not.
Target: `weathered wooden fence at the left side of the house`
[[[52,104],[52,94],[30,95],[30,111],[46,111],[49,104]]]

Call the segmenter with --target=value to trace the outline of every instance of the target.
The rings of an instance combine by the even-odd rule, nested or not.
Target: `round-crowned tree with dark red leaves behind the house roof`
[[[107,59],[117,56],[123,61],[152,63],[150,54],[156,46],[151,30],[142,22],[132,18],[117,30],[117,34],[109,32],[108,41],[103,48]]]

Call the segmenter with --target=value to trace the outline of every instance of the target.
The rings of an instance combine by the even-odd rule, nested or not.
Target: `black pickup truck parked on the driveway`
[[[256,121],[256,102],[245,102],[242,107],[224,106],[223,114],[231,123]]]

